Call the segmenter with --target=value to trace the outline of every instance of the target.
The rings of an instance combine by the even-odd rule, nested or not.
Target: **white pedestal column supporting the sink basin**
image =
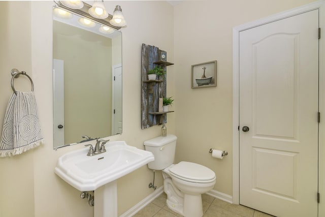
[[[94,191],[94,217],[117,217],[117,181]]]

